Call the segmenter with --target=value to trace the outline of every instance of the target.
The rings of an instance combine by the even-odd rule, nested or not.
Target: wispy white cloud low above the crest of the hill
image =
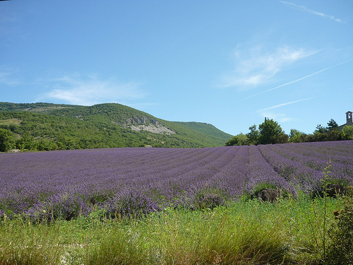
[[[97,76],[82,77],[77,73],[52,78],[49,83],[54,89],[40,95],[37,101],[55,99],[74,105],[94,105],[133,100],[144,95],[140,90],[140,83],[119,83],[112,78],[100,80]]]

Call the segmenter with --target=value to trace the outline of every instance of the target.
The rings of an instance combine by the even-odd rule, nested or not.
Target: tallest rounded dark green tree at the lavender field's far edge
[[[273,119],[265,118],[265,122],[258,126],[260,136],[258,137],[259,143],[287,143],[288,136],[282,130],[280,124]]]

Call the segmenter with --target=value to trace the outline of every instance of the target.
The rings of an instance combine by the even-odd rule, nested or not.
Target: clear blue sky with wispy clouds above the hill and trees
[[[311,134],[352,94],[351,0],[0,1],[0,102]]]

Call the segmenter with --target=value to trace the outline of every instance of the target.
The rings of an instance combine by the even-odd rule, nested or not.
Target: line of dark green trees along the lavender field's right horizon
[[[258,127],[256,124],[249,127],[248,134],[237,134],[229,139],[225,146],[246,146],[270,143],[304,143],[316,141],[341,141],[353,139],[353,125],[344,126],[339,129],[337,122],[330,119],[328,126],[316,126],[312,134],[305,134],[297,129],[291,129],[285,134],[280,124],[273,119],[265,118],[265,121]]]

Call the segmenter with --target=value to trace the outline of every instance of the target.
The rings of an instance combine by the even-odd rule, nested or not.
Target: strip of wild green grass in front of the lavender
[[[52,223],[4,218],[0,264],[329,264],[340,233],[347,232],[349,198],[352,203],[352,194],[325,200],[301,195],[114,220],[100,212]],[[350,239],[341,242],[350,242],[348,252]]]

